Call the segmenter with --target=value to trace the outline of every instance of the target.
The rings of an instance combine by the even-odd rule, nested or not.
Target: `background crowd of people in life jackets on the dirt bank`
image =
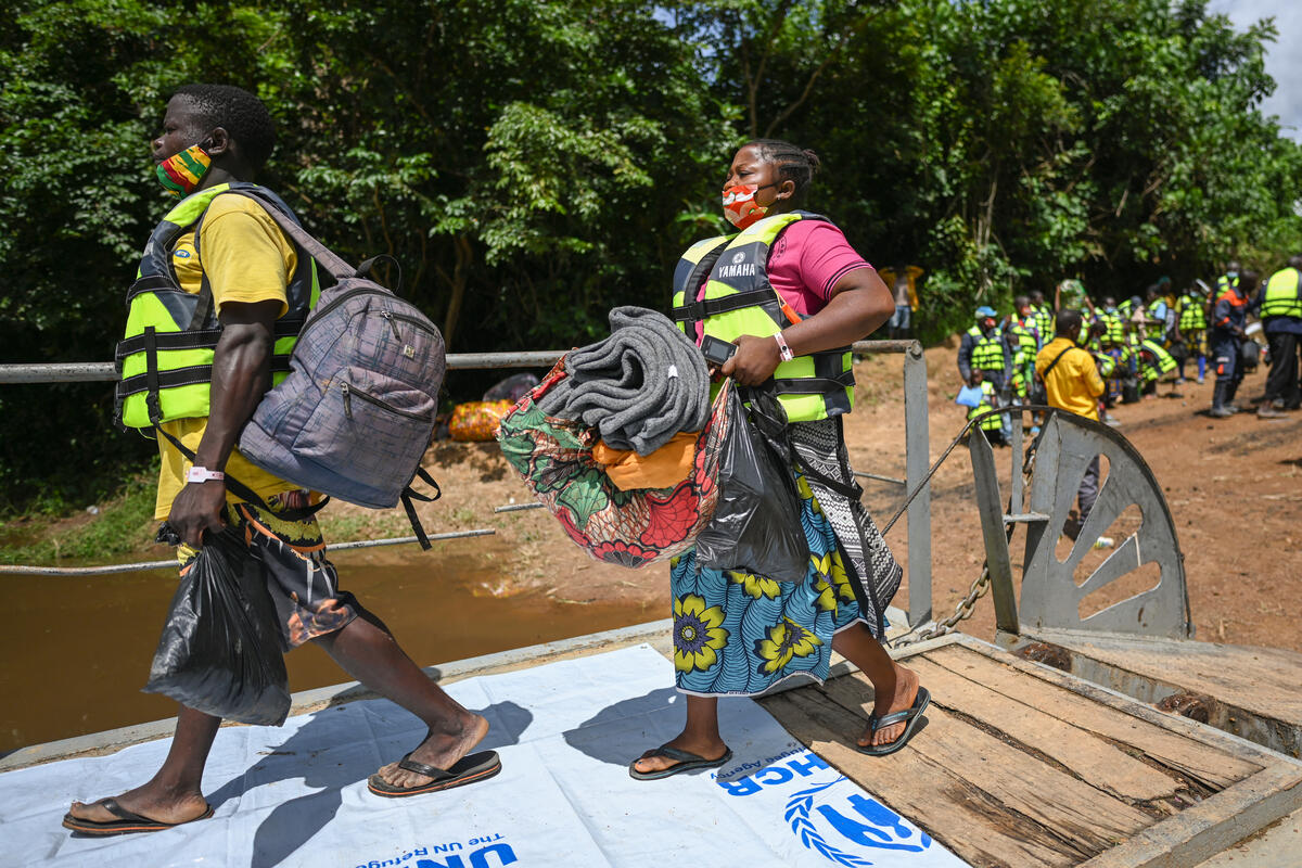
[[[958,349],[967,418],[990,410],[1043,403],[1043,385],[1035,373],[1036,354],[1055,337],[1055,316],[1078,310],[1083,319],[1079,345],[1088,350],[1105,384],[1099,418],[1117,424],[1109,411],[1122,403],[1156,397],[1159,384],[1169,384],[1167,397],[1182,397],[1189,366],[1197,381],[1213,379],[1208,415],[1224,419],[1238,413],[1234,402],[1245,373],[1266,360],[1269,375],[1256,415],[1282,418],[1302,406],[1298,351],[1302,338],[1302,254],[1262,280],[1256,272],[1228,263],[1213,285],[1198,278],[1176,289],[1169,277],[1151,284],[1143,295],[1120,303],[1112,295],[1098,303],[1079,280],[1064,280],[1053,303],[1043,292],[1018,295],[1013,311],[1000,316],[990,306],[975,311],[975,321]],[[1260,327],[1250,325],[1255,315]],[[1255,334],[1266,341],[1263,346]],[[979,390],[979,392],[978,392]],[[987,415],[978,426],[996,445],[1008,445],[1012,414]],[[1032,418],[1025,423],[1038,433]]]

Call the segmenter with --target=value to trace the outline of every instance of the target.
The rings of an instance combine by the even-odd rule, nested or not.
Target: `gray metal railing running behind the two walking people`
[[[927,362],[918,341],[859,341],[853,350],[858,355],[904,354],[904,423],[905,423],[905,478],[857,472],[863,479],[874,479],[905,485],[907,492],[921,488],[907,508],[909,549],[909,623],[931,619],[931,487],[927,481],[930,465],[930,429],[927,420]],[[449,371],[490,368],[549,367],[565,350],[534,350],[519,353],[453,353],[448,355]],[[0,385],[40,383],[103,383],[117,379],[112,362],[61,362],[34,364],[0,364]],[[536,504],[499,506],[495,513],[510,513],[535,508]],[[488,536],[492,530],[457,531],[431,535],[431,540]],[[354,540],[328,547],[329,550],[400,545],[414,543],[414,536],[384,540]],[[0,565],[0,575],[112,575],[135,570],[173,567],[174,561],[148,561],[143,563],[116,563],[95,567],[42,567]]]

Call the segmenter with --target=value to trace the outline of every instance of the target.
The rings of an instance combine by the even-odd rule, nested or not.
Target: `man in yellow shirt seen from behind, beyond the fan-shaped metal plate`
[[[1099,398],[1103,396],[1103,377],[1094,355],[1079,346],[1081,311],[1066,308],[1057,314],[1055,337],[1035,355],[1035,375],[1044,383],[1051,407],[1074,413],[1086,419],[1099,420]],[[1085,470],[1077,492],[1077,518],[1069,519],[1062,532],[1073,540],[1085,526],[1099,497],[1099,457]]]

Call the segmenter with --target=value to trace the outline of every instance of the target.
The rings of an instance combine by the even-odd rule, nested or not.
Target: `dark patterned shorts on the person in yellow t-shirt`
[[[228,504],[227,523],[243,536],[249,557],[262,565],[286,651],[335,632],[357,617],[357,600],[339,590],[335,565],[326,560],[326,540],[315,517],[293,521],[276,510]],[[185,575],[198,552],[182,543],[176,553]]]

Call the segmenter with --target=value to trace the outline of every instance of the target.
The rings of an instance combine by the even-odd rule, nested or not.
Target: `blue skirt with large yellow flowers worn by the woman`
[[[836,532],[797,472],[810,547],[803,582],[697,569],[695,549],[671,561],[673,665],[686,694],[751,696],[793,675],[827,678],[832,635],[861,619]]]

